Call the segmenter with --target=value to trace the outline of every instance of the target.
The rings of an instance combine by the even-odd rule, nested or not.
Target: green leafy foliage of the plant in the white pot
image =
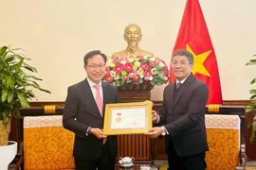
[[[27,75],[36,73],[35,67],[28,65],[31,60],[20,53],[20,48],[0,47],[0,119],[6,123],[9,116],[20,116],[20,108],[29,107],[27,99],[34,98],[32,90],[50,93],[37,83],[39,77]]]

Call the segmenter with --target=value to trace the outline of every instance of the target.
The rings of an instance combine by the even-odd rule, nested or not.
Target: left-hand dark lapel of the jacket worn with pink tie
[[[90,87],[90,85],[87,81],[87,78],[84,79],[84,81],[82,83],[82,88],[83,88],[82,93],[85,97],[85,100],[87,100],[90,103],[90,106],[93,108],[93,110],[98,110],[97,115],[101,117],[101,112],[98,109],[98,106],[97,106],[96,101],[94,99],[94,96],[93,96],[91,87]]]

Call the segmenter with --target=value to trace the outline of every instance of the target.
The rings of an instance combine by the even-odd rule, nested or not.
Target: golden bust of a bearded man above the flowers
[[[128,43],[126,49],[114,53],[112,55],[113,57],[117,56],[119,58],[122,58],[130,56],[154,56],[152,53],[148,51],[139,49],[138,42],[140,42],[142,39],[141,29],[139,26],[135,24],[126,26],[124,29],[123,38]]]

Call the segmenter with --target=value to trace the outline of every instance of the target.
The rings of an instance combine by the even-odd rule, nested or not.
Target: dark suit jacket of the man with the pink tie
[[[103,114],[105,104],[118,103],[118,89],[102,81]],[[93,134],[86,135],[88,127],[103,128],[103,117],[97,107],[87,78],[73,86],[68,87],[64,106],[64,128],[75,133],[73,155],[83,161],[95,161],[101,157],[103,140]],[[107,141],[110,152],[114,157],[118,155],[117,136],[108,136]]]

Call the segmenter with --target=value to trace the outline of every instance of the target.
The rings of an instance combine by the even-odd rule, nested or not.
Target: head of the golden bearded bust
[[[131,24],[126,26],[124,29],[124,40],[128,43],[131,47],[137,47],[138,42],[142,39],[141,29],[139,26],[135,24]]]

